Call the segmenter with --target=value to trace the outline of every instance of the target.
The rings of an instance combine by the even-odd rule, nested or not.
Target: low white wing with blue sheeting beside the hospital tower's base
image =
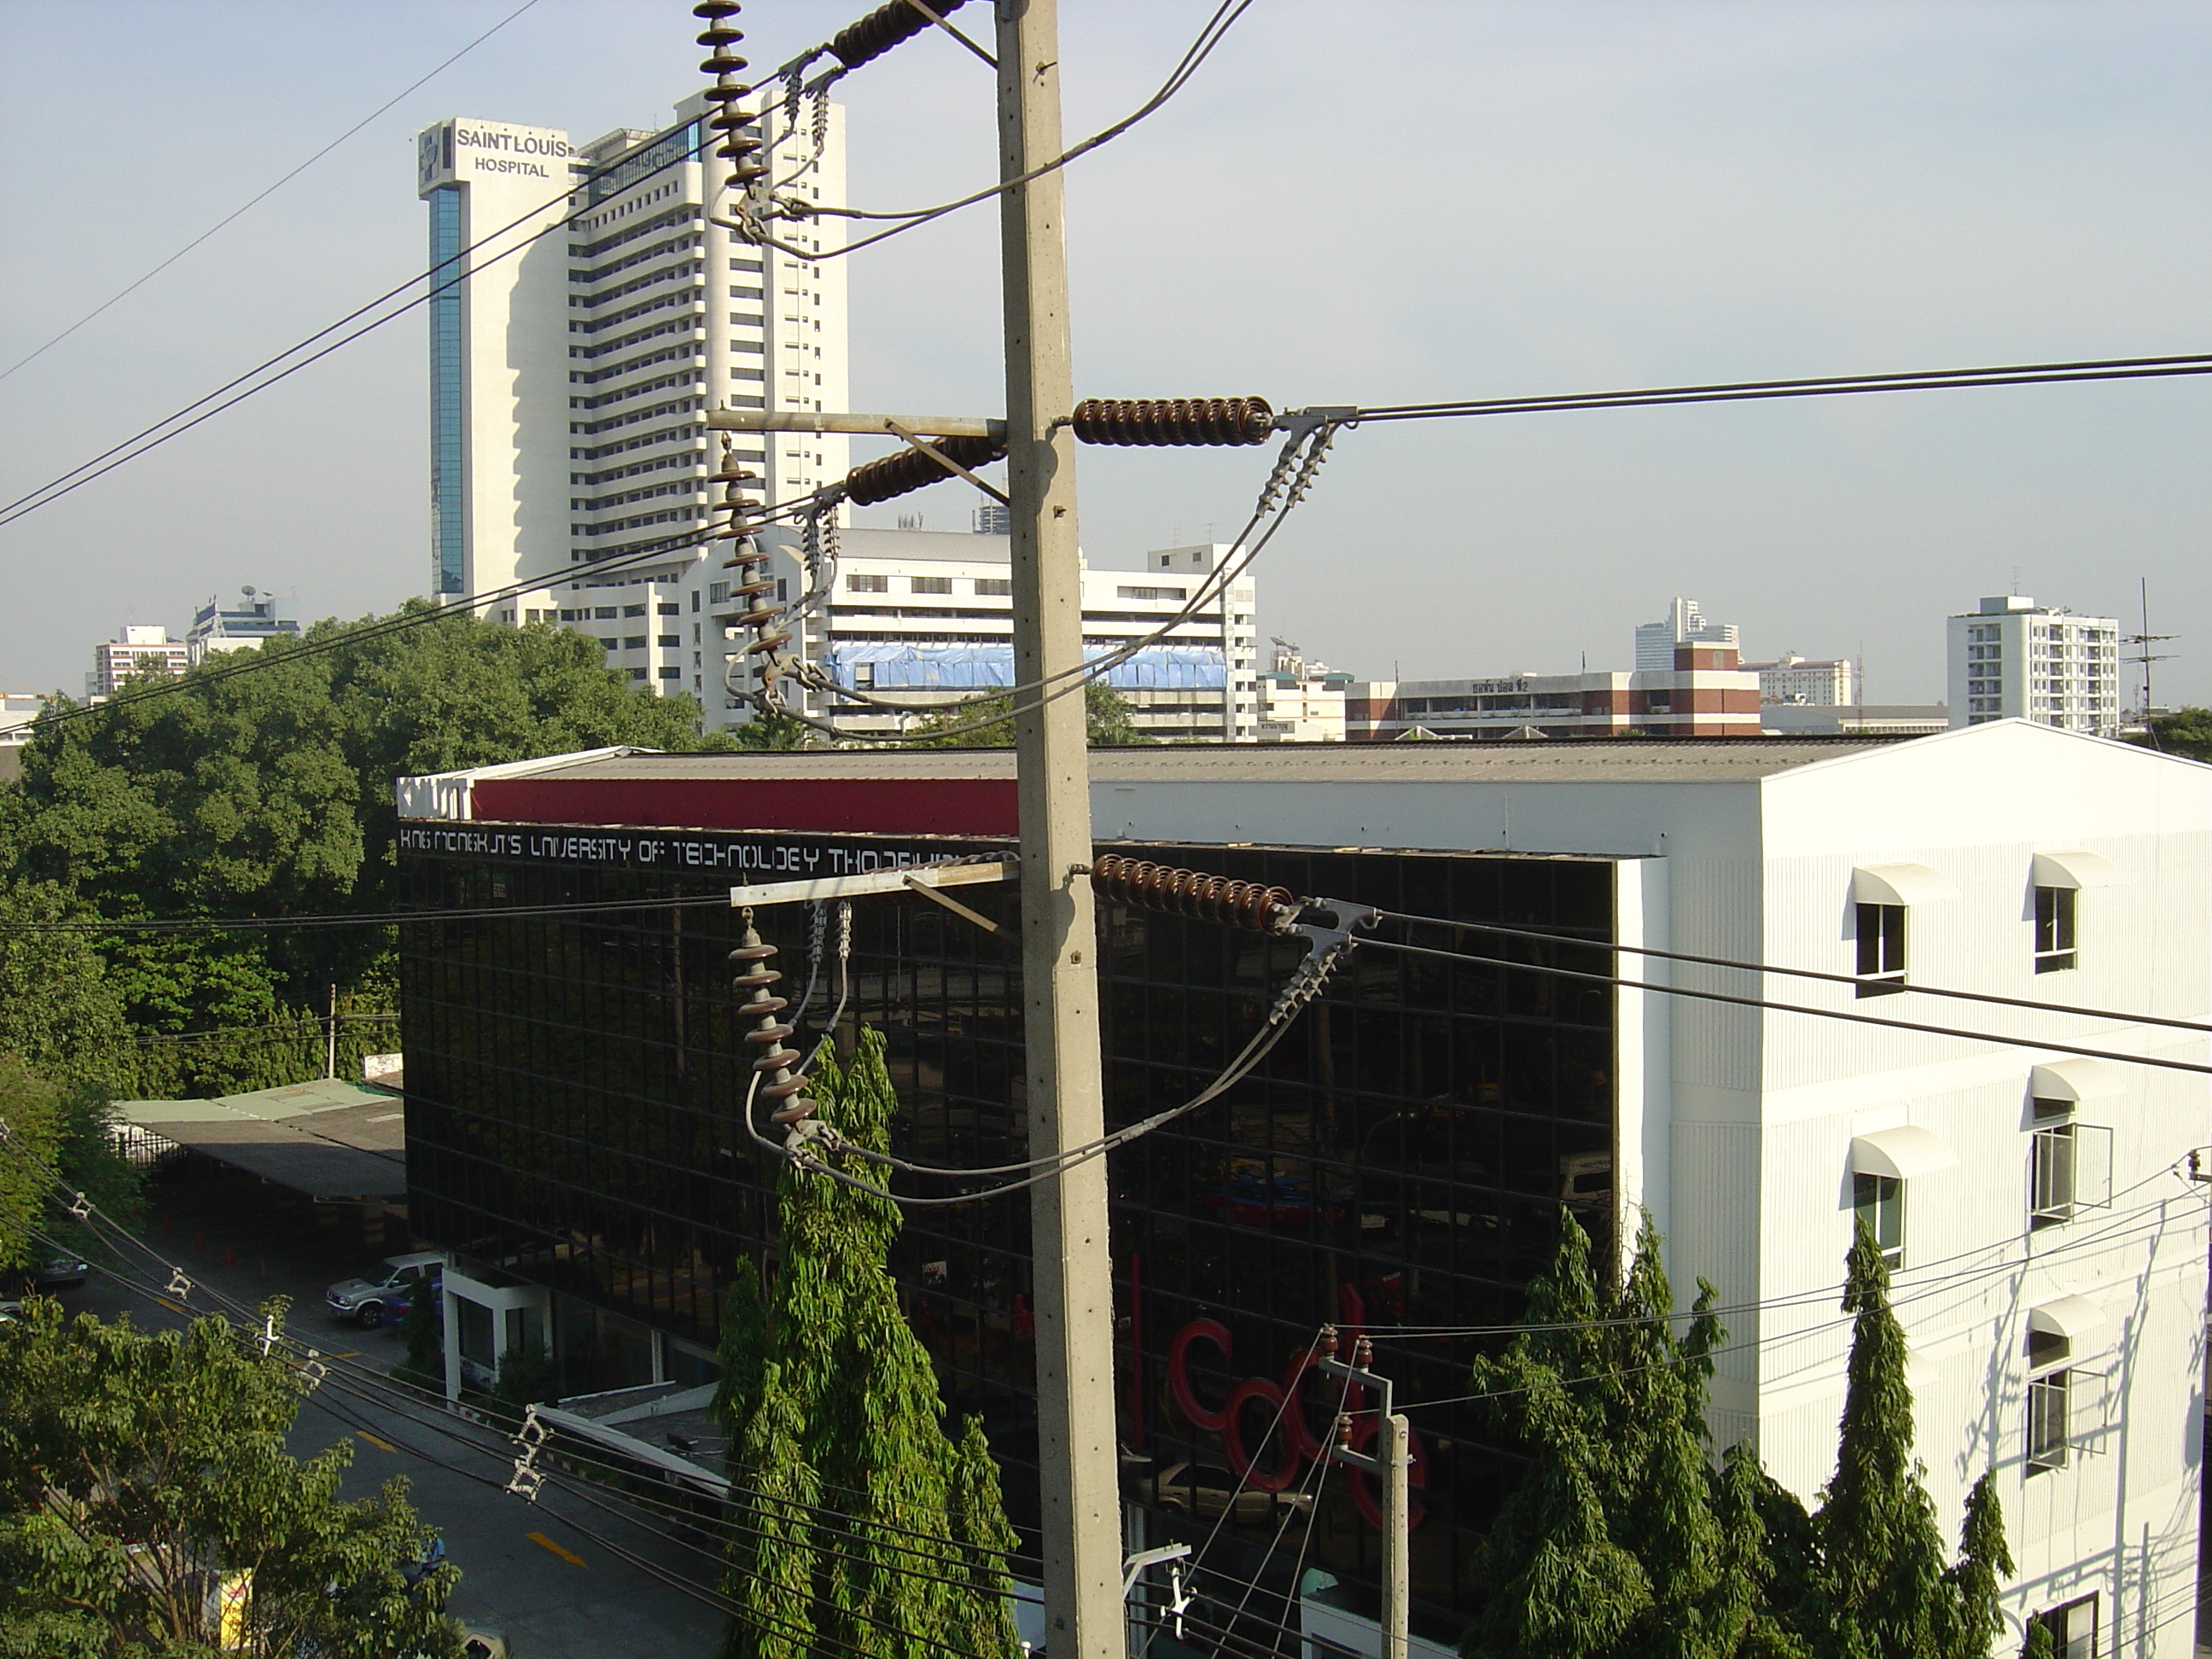
[[[770,573],[785,599],[805,593],[799,538],[787,529],[765,535],[774,549]],[[801,626],[792,650],[849,690],[918,703],[922,710],[874,710],[836,695],[807,692],[801,708],[854,737],[891,734],[967,697],[989,697],[1013,684],[1011,542],[969,531],[838,533],[836,586]],[[1234,577],[1221,597],[1199,599],[1230,549],[1219,542],[1157,549],[1141,571],[1082,573],[1084,648],[1097,657],[1133,639],[1168,633],[1139,648],[1106,675],[1128,703],[1137,730],[1161,741],[1234,743],[1259,737],[1259,675],[1254,588]],[[681,604],[666,615],[679,633],[684,666],[699,681],[688,688],[723,714],[743,719],[743,703],[728,692],[723,672],[745,672],[745,641],[730,584],[706,588],[703,615]],[[597,597],[597,595],[588,595]],[[641,604],[641,602],[639,602]],[[1170,626],[1172,624],[1172,626]],[[626,624],[630,626],[630,624]],[[639,633],[646,624],[635,619]],[[688,630],[688,633],[686,633]],[[624,641],[626,644],[626,641]]]

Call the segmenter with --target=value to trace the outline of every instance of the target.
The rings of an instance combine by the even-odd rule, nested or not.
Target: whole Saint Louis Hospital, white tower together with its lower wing
[[[757,248],[710,221],[728,217],[728,164],[712,155],[706,113],[692,97],[661,133],[617,128],[584,146],[555,128],[449,119],[420,135],[416,184],[431,265],[458,274],[434,285],[429,310],[431,591],[456,602],[542,584],[482,615],[591,635],[611,666],[690,692],[721,728],[750,710],[721,684],[730,653],[743,659],[728,544],[695,544],[719,500],[708,473],[721,434],[706,411],[849,405],[843,261]],[[830,104],[816,119],[810,102],[785,128],[772,106],[761,122],[776,195],[841,206],[843,111]],[[779,239],[836,248],[838,226],[781,221]],[[739,434],[734,445],[770,504],[849,465],[832,436]],[[799,597],[796,535],[779,526],[763,540],[776,551],[770,573]],[[843,686],[914,703],[1011,679],[1002,515],[982,513],[975,533],[852,529],[843,542],[836,591],[803,622],[796,655]],[[1086,641],[1108,650],[1170,622],[1228,553],[1206,542],[1086,571]],[[1250,580],[1110,684],[1152,737],[1259,737]],[[816,692],[803,708],[854,734],[902,723]]]

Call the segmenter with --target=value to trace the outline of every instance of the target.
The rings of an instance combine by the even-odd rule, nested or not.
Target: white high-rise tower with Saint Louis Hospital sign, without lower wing
[[[703,617],[719,573],[719,553],[697,544],[723,453],[706,411],[845,407],[845,270],[810,257],[836,246],[836,219],[781,221],[794,252],[712,223],[728,217],[728,164],[710,153],[706,113],[695,95],[659,133],[617,128],[582,146],[560,128],[456,117],[422,131],[416,184],[440,272],[434,593],[542,584],[482,615],[613,639],[611,664],[664,692],[697,690],[708,723],[726,726],[734,714],[706,690],[723,641],[692,650],[690,628],[664,622]],[[836,104],[796,124],[772,106],[759,128],[779,197],[843,204]],[[770,504],[847,469],[834,436],[730,442]],[[599,626],[624,619],[639,626]]]

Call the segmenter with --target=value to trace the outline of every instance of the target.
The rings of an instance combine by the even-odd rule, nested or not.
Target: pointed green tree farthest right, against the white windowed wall
[[[1966,1504],[1960,1559],[1947,1566],[1936,1504],[1913,1460],[1905,1327],[1889,1310],[1889,1265],[1865,1221],[1845,1267],[1849,1380],[1836,1473],[1812,1517],[1816,1566],[1803,1628],[1823,1659],[1951,1659],[1989,1652],[1997,1584],[2013,1571],[1989,1475]]]

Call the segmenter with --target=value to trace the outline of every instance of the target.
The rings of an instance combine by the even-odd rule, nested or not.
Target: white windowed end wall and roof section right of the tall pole
[[[2097,1632],[2070,1652],[2197,1652],[2212,1214],[2188,1159],[2212,1095],[2135,1060],[2212,1060],[2212,768],[2024,721],[1172,761],[1093,754],[1102,836],[1608,858],[1619,945],[1845,975],[1621,956],[1626,980],[2013,1040],[1619,989],[1617,1237],[1648,1210],[1674,1285],[1721,1290],[1714,1444],[1752,1440],[1812,1504],[1836,1467],[1843,1259],[1865,1217],[1893,1259],[1949,1544],[1997,1473],[2015,1573],[1993,1652],[2062,1608]],[[1365,1630],[1345,1650],[1376,1652]]]

